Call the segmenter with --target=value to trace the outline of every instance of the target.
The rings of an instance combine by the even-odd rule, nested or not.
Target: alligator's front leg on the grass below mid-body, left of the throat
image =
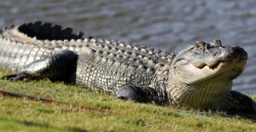
[[[133,100],[136,102],[154,102],[158,105],[165,105],[165,101],[160,100],[158,92],[147,86],[124,86],[116,91],[116,96],[123,100]]]

